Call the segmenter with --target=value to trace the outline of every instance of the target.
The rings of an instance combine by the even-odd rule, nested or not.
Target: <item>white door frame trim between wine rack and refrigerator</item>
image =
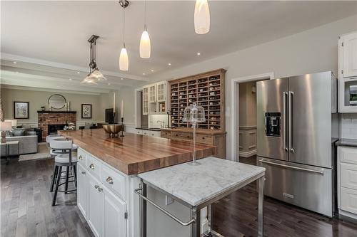
[[[274,73],[263,73],[258,75],[249,75],[246,77],[241,78],[234,78],[231,80],[231,156],[234,161],[239,162],[239,135],[238,131],[239,128],[239,83],[246,83],[249,81],[256,81],[256,80],[264,80],[264,79],[273,79]],[[237,100],[238,99],[238,100]]]

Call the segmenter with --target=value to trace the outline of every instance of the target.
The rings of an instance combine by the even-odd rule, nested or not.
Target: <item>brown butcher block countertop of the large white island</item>
[[[124,132],[111,138],[103,129],[59,131],[86,152],[119,171],[131,175],[148,172],[192,159],[192,142]],[[196,144],[197,159],[216,154],[216,147]]]

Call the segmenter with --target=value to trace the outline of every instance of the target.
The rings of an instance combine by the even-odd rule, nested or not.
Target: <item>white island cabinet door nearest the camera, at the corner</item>
[[[126,236],[126,204],[104,186],[103,233],[106,237]]]

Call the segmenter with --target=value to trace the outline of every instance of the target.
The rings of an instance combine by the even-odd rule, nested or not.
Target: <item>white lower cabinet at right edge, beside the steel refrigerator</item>
[[[338,147],[338,212],[357,219],[357,147]]]

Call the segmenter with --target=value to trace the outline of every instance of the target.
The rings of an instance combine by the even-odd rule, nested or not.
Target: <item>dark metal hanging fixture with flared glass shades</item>
[[[96,66],[96,40],[99,36],[92,35],[91,38],[88,39],[88,42],[91,43],[91,47],[89,49],[89,74],[81,81],[81,84],[94,84],[97,80],[106,80],[103,73]]]

